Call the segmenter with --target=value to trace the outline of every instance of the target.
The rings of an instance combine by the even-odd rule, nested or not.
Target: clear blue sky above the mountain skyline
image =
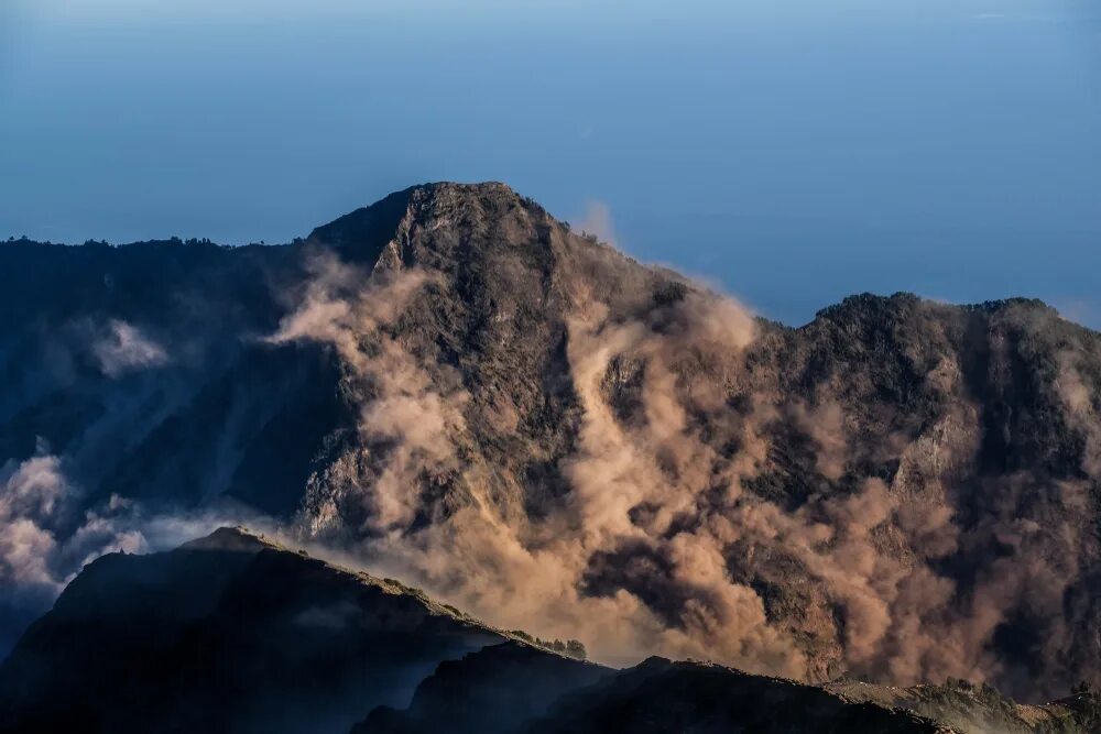
[[[1101,327],[1095,4],[4,0],[0,233],[279,242],[497,179],[791,324],[905,289]]]

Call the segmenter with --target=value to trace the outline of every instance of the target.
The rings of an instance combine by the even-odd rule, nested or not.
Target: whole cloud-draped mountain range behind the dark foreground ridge
[[[604,662],[1101,683],[1101,337],[1038,302],[789,328],[433,184],[282,247],[0,244],[0,314],[9,636],[244,521]]]

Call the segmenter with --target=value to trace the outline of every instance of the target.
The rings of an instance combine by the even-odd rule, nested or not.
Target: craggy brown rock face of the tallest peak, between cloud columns
[[[389,240],[378,239],[386,230],[379,227],[375,207],[318,228],[307,240],[321,252],[340,253],[341,262],[370,263],[372,281],[423,278],[419,291],[406,294],[404,310],[382,325],[384,333],[371,333],[373,324],[361,320],[340,325],[363,352],[392,340],[402,354],[353,374],[360,380],[346,383],[349,399],[364,405],[384,402],[392,392],[419,391],[414,398],[440,398],[437,413],[454,404],[460,415],[422,409],[418,417],[461,421],[446,426],[456,430],[442,438],[456,445],[466,465],[461,471],[442,465],[430,479],[419,478],[422,493],[454,504],[483,492],[511,519],[545,511],[544,503],[568,491],[558,463],[570,453],[581,421],[567,355],[570,321],[584,316],[595,293],[612,318],[628,319],[648,313],[665,289],[679,293],[684,286],[672,273],[577,237],[501,184],[416,187],[402,198],[406,209],[385,234]],[[394,204],[389,197],[377,205],[385,221]],[[356,278],[351,288],[329,295],[347,302],[360,297],[361,287]],[[425,384],[388,390],[380,384],[383,370],[423,373]],[[315,515],[339,518],[339,529],[349,519],[379,529],[372,518],[355,516],[363,505],[359,486],[346,487],[350,497],[333,484],[323,487],[330,493],[310,501],[327,507],[313,508]]]

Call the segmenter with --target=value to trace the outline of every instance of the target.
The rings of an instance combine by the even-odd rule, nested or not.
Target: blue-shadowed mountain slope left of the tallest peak
[[[285,504],[262,472],[233,480],[268,460],[281,410],[337,409],[323,355],[260,342],[284,310],[277,295],[304,276],[298,260],[292,248],[178,240],[2,244],[0,461],[64,457],[88,497],[195,503],[264,483],[271,495],[250,500],[293,510],[297,495]],[[293,462],[317,442],[303,432],[280,446],[299,489],[307,472]]]

